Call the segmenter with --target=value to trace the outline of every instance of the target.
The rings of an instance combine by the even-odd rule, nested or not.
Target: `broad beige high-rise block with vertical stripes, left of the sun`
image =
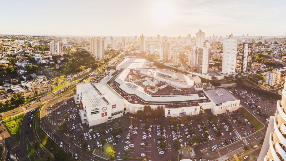
[[[96,59],[104,58],[104,43],[106,38],[91,37],[90,38],[90,53],[95,56]]]

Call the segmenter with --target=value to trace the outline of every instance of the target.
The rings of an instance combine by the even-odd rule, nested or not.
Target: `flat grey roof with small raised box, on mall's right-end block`
[[[229,91],[224,88],[221,89],[213,89],[213,90],[205,90],[204,91],[208,97],[215,103],[225,103],[227,101],[235,101],[238,100],[235,98]],[[219,95],[218,95],[219,94]]]

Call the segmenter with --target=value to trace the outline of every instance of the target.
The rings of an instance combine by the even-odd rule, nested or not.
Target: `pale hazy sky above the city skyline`
[[[286,1],[1,0],[0,34],[286,35]]]

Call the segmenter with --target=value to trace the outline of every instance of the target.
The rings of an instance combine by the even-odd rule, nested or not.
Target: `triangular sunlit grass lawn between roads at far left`
[[[23,117],[24,113],[11,118],[11,121],[10,119],[3,121],[4,125],[7,127],[17,142],[20,142],[20,128]]]

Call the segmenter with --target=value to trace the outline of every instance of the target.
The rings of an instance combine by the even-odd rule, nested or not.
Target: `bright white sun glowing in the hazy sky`
[[[154,5],[153,19],[158,24],[166,24],[174,19],[174,7],[169,2],[159,2]]]

